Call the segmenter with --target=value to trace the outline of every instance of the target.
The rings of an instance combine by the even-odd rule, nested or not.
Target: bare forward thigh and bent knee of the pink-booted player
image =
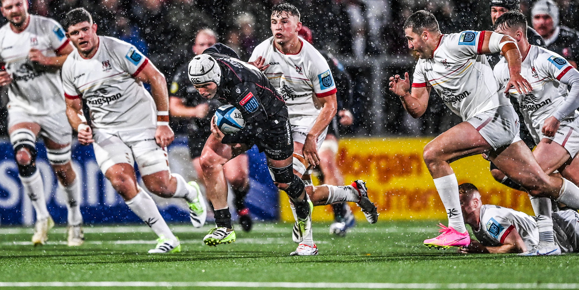
[[[468,122],[461,122],[438,135],[424,147],[424,161],[453,162],[460,158],[492,150],[490,144]]]

